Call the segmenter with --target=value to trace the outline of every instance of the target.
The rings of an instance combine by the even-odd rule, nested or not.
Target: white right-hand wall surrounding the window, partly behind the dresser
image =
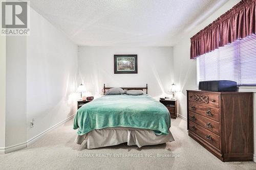
[[[209,16],[206,20],[200,23],[193,31],[181,37],[181,41],[174,46],[174,69],[175,82],[178,84],[181,92],[177,93],[179,100],[179,114],[186,117],[186,90],[198,89],[197,87],[197,71],[196,60],[190,60],[190,37],[194,36],[204,27],[208,26],[212,21],[231,9],[240,0],[230,0],[224,4],[215,13]],[[243,88],[243,91],[256,92],[256,88]],[[254,93],[254,150],[256,148],[256,93]],[[254,162],[256,162],[256,152],[254,152]]]

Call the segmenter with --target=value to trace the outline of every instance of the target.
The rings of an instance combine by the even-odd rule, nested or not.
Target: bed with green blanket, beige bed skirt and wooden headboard
[[[103,92],[111,87],[103,88]],[[78,129],[75,142],[86,141],[87,149],[127,145],[154,145],[174,141],[168,109],[147,94],[146,87],[122,87],[145,90],[142,95],[103,95],[84,104],[74,117]]]

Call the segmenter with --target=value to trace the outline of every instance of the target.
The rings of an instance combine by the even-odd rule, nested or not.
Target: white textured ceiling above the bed
[[[173,46],[227,0],[31,0],[77,45]]]

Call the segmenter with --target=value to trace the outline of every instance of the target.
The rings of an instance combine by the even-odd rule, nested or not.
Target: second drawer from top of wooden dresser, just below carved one
[[[210,108],[194,102],[188,102],[188,110],[220,122],[220,111],[217,108]]]

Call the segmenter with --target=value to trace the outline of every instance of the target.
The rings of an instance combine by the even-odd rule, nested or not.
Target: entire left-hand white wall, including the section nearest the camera
[[[25,148],[76,110],[78,47],[30,11],[30,36],[0,39],[0,153]]]

